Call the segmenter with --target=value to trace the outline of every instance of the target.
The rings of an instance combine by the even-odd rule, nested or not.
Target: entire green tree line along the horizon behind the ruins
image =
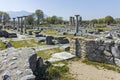
[[[10,21],[10,16],[7,12],[0,11],[0,23],[6,24]],[[106,16],[104,18],[92,19],[92,20],[83,20],[86,23],[94,23],[94,24],[120,24],[120,18],[114,19],[112,16]],[[34,13],[28,15],[27,24],[28,25],[41,25],[41,24],[63,24],[68,21],[63,20],[62,17],[58,17],[56,15],[46,17],[42,10],[37,9]]]

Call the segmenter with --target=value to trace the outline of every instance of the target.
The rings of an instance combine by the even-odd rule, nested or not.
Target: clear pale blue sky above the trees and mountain
[[[79,14],[83,19],[120,17],[120,0],[0,0],[0,11],[29,11],[41,9],[49,16],[64,19]]]

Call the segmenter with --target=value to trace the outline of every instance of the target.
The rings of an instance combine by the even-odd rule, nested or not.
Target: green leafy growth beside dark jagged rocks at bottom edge
[[[63,67],[50,66],[47,69],[48,80],[74,80],[68,75],[69,67],[67,65]]]

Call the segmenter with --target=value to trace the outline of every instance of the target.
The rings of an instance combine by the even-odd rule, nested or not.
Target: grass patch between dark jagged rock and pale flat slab
[[[38,51],[37,55],[39,57],[42,57],[43,59],[48,59],[51,57],[52,54],[57,53],[57,52],[62,52],[59,48],[53,48],[53,49],[48,49],[48,50],[42,50]]]

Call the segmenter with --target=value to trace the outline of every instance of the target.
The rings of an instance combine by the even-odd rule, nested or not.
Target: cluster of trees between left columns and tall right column
[[[35,13],[29,15],[27,17],[27,23],[29,25],[40,25],[40,24],[62,24],[65,22],[62,17],[58,16],[51,16],[51,17],[46,17],[44,16],[44,12],[40,9],[36,10]]]

